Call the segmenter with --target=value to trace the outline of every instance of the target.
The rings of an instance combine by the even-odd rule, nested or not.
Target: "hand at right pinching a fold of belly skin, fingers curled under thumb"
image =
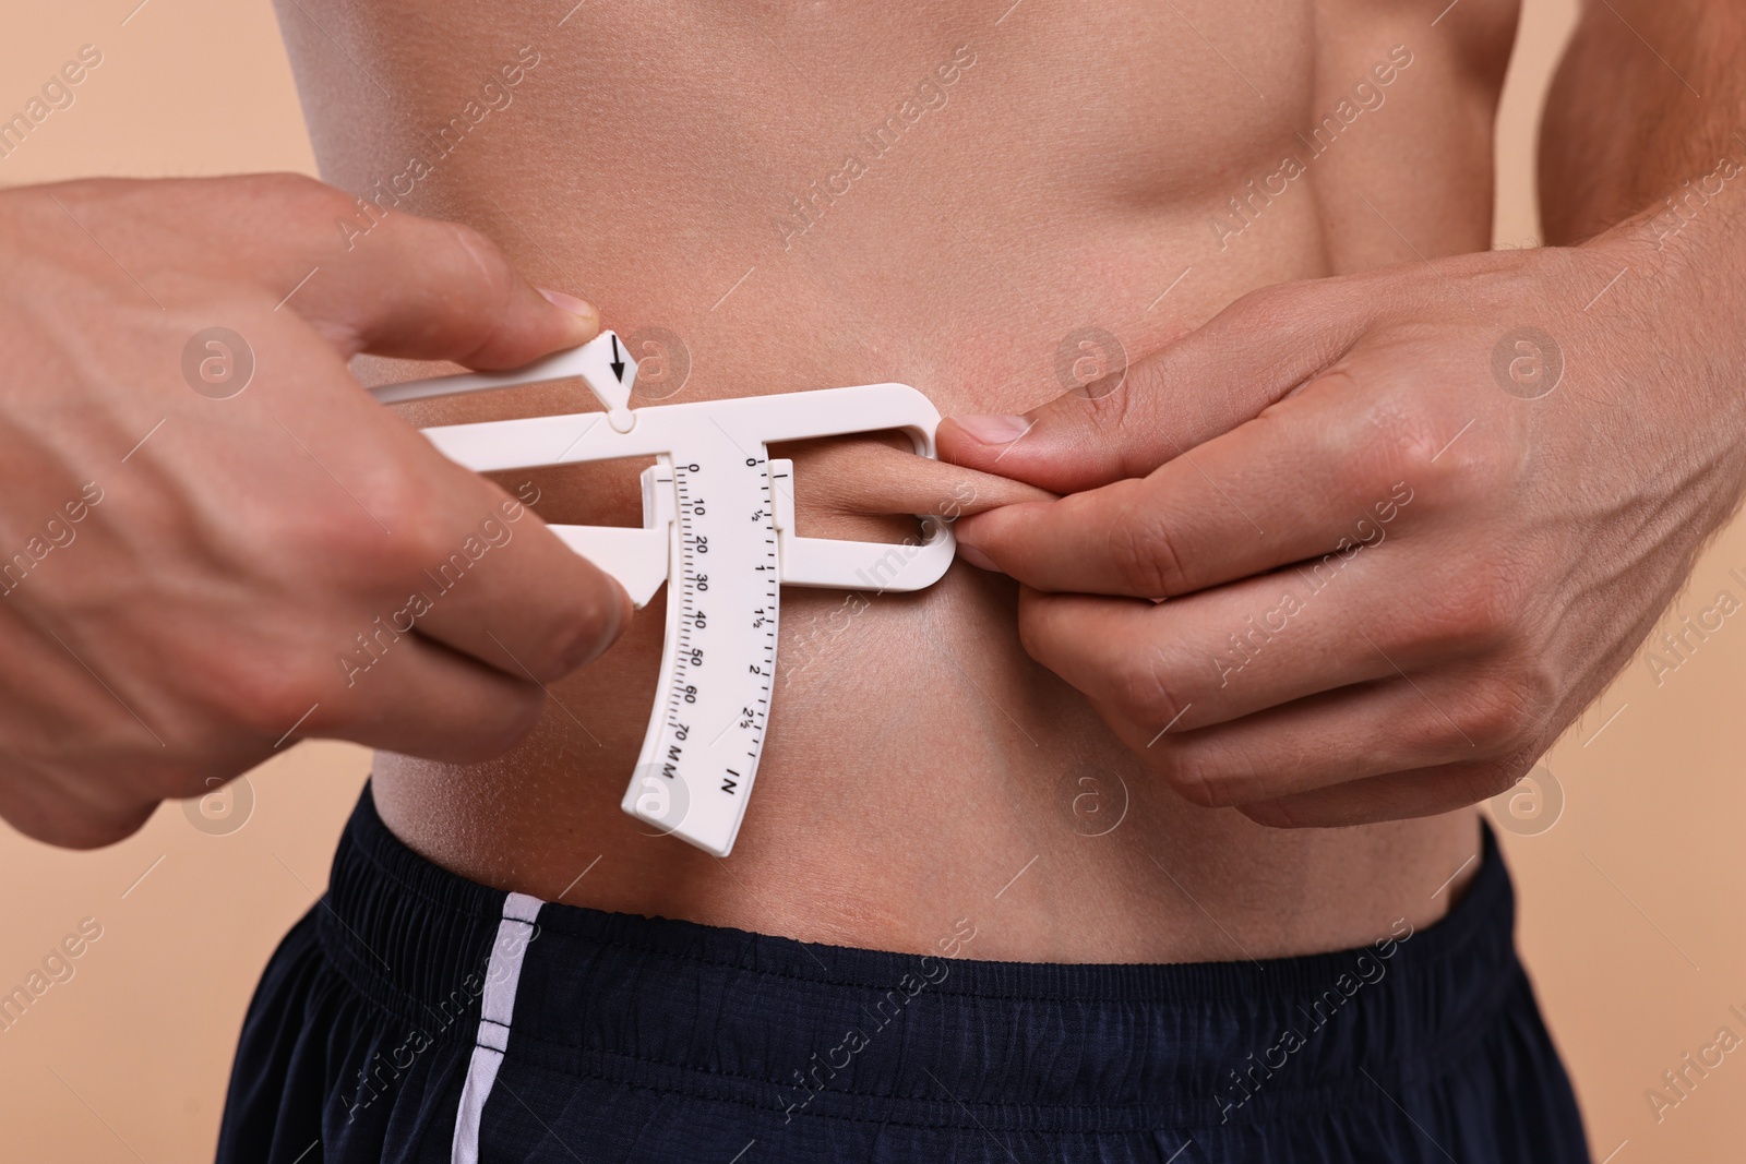
[[[1107,394],[948,421],[943,457],[1069,494],[964,518],[964,553],[1194,803],[1489,798],[1741,496],[1746,288],[1610,237],[1266,288]]]

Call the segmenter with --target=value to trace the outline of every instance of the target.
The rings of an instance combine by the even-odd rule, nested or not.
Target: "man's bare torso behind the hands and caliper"
[[[1516,10],[1439,9],[391,0],[281,23],[330,181],[677,337],[672,400],[901,380],[950,415],[1060,394],[1081,328],[1138,358],[1257,286],[1486,248]],[[506,405],[592,407],[412,419]],[[501,480],[548,520],[636,520],[634,473]],[[889,531],[854,513],[876,482],[814,483],[801,464],[803,532]],[[1472,813],[1278,832],[1180,801],[1025,656],[1013,585],[959,564],[918,595],[784,592],[758,789],[718,860],[618,810],[658,602],[503,759],[381,756],[384,820],[545,899],[917,951],[967,918],[967,953],[1039,962],[1355,946],[1440,916],[1477,852]]]

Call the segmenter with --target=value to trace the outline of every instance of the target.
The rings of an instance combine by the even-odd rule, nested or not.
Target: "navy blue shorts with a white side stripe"
[[[1587,1162],[1489,832],[1440,923],[1261,963],[978,962],[501,894],[365,791],[243,1026],[223,1164]]]

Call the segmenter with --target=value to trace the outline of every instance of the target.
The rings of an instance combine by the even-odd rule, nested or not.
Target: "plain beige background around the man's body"
[[[314,173],[265,0],[101,0],[0,7],[0,113],[84,44],[103,65],[10,159],[0,183],[79,175]],[[1533,127],[1575,0],[1528,0],[1498,143],[1500,246],[1533,244]],[[1440,3],[1432,5],[1440,7]],[[131,14],[131,16],[129,16]],[[1573,368],[1573,373],[1580,370]],[[1746,599],[1746,524],[1699,565],[1678,611],[1720,588]],[[1557,822],[1505,836],[1521,946],[1575,1073],[1596,1161],[1737,1159],[1746,1052],[1657,1122],[1645,1099],[1681,1054],[1746,1010],[1746,618],[1730,618],[1657,684],[1643,660],[1547,764]],[[246,825],[194,827],[166,805],[96,853],[0,827],[0,989],[82,918],[103,937],[0,1031],[0,1155],[30,1161],[210,1159],[230,1049],[262,963],[327,881],[367,754],[304,745],[248,777]],[[218,805],[213,806],[222,808]]]

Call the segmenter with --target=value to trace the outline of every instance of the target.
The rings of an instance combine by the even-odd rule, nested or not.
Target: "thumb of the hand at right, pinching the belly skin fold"
[[[1252,291],[1173,344],[1023,415],[948,417],[939,455],[1056,494],[1145,476],[1339,359],[1369,319],[1343,283]]]

